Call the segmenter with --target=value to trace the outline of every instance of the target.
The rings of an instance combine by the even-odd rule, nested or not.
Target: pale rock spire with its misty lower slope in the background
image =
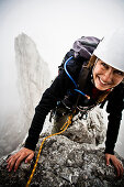
[[[18,99],[16,108],[0,118],[0,157],[16,148],[25,138],[43,91],[49,85],[47,64],[41,58],[35,43],[26,34],[14,41]],[[11,77],[10,77],[11,78]],[[8,92],[9,96],[9,92]],[[14,90],[13,90],[14,96]],[[11,128],[10,128],[11,127]]]

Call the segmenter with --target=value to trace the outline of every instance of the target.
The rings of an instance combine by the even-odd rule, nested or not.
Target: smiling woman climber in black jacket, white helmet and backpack
[[[75,42],[66,54],[59,74],[52,86],[45,90],[29,130],[25,145],[8,158],[9,172],[18,169],[25,160],[29,163],[34,157],[36,143],[47,113],[55,109],[53,133],[59,132],[67,117],[79,111],[88,112],[95,106],[108,101],[108,131],[104,157],[116,169],[117,177],[123,175],[123,166],[114,155],[122,119],[124,99],[124,30],[108,34],[102,40],[82,36]],[[84,109],[84,110],[83,110]]]

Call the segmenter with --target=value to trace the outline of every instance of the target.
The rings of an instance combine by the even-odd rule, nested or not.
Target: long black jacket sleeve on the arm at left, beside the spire
[[[35,114],[29,130],[29,136],[25,141],[26,148],[35,150],[46,116],[56,107],[57,101],[64,98],[68,85],[71,86],[71,81],[66,73],[61,70],[52,86],[43,94],[38,106],[35,108]]]

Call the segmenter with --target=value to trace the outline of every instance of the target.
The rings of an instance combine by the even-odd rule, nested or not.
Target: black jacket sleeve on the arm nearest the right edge
[[[108,131],[105,141],[105,153],[114,154],[114,147],[119,135],[120,123],[122,120],[124,91],[123,86],[119,85],[109,96],[106,106]]]

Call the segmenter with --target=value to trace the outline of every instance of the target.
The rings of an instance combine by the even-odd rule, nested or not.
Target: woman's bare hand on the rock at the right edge
[[[110,161],[112,162],[112,164],[114,165],[116,169],[116,176],[121,178],[123,176],[123,166],[121,162],[116,158],[116,156],[105,153],[105,161],[106,161],[106,166],[110,165]]]

